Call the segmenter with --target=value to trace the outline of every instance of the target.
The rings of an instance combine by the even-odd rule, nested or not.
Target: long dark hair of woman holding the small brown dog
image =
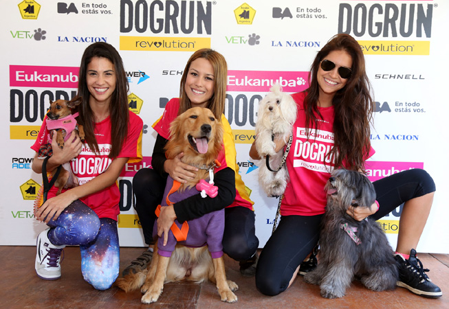
[[[87,65],[92,58],[106,58],[111,61],[116,72],[116,90],[112,93],[109,113],[111,117],[111,152],[109,158],[115,158],[122,150],[124,139],[128,135],[129,108],[127,93],[129,84],[126,72],[124,71],[122,58],[117,50],[110,44],[98,42],[89,45],[81,58],[78,95],[83,98],[83,102],[78,106],[78,122],[83,124],[86,141],[91,150],[98,153],[98,143],[94,135],[94,113],[89,105],[89,89],[87,88],[86,74]]]

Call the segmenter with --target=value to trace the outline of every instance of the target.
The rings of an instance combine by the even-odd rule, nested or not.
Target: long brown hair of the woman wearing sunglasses
[[[318,52],[311,65],[310,86],[304,101],[306,128],[317,128],[319,85],[317,73],[321,60],[330,52],[344,51],[352,58],[352,75],[347,84],[333,97],[335,118],[333,120],[334,146],[329,157],[335,158],[335,168],[364,171],[364,159],[371,148],[370,124],[373,119],[374,102],[371,84],[366,76],[362,49],[349,34],[337,34]]]

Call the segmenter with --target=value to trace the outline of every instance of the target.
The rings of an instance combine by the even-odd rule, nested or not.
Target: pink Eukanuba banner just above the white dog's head
[[[309,72],[286,71],[228,71],[227,91],[267,92],[278,82],[284,92],[307,89]]]

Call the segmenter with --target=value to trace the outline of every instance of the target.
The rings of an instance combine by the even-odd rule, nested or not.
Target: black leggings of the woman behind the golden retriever
[[[166,179],[151,168],[142,168],[133,178],[135,211],[137,211],[146,244],[154,244],[155,210],[162,201]],[[243,261],[256,253],[259,239],[254,226],[254,211],[247,207],[225,208],[223,252],[230,258]]]

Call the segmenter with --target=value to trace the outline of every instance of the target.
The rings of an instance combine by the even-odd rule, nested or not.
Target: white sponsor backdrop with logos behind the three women
[[[118,185],[122,246],[144,246],[133,208],[131,181],[151,167],[156,134],[151,124],[169,99],[190,55],[217,49],[228,61],[225,115],[234,133],[240,173],[255,202],[263,247],[278,200],[259,190],[258,167],[248,157],[257,108],[270,84],[289,93],[307,88],[316,52],[339,32],[354,36],[366,55],[376,102],[368,165],[372,181],[424,168],[437,193],[418,251],[449,253],[446,71],[449,3],[430,1],[169,1],[13,0],[2,5],[0,93],[3,154],[0,244],[33,245],[45,225],[33,218],[41,175],[30,150],[50,100],[76,94],[85,47],[115,46],[129,80],[129,108],[144,121],[143,155],[126,166]],[[89,167],[87,167],[89,168]],[[298,192],[300,194],[300,192]],[[395,247],[402,207],[380,220]]]

